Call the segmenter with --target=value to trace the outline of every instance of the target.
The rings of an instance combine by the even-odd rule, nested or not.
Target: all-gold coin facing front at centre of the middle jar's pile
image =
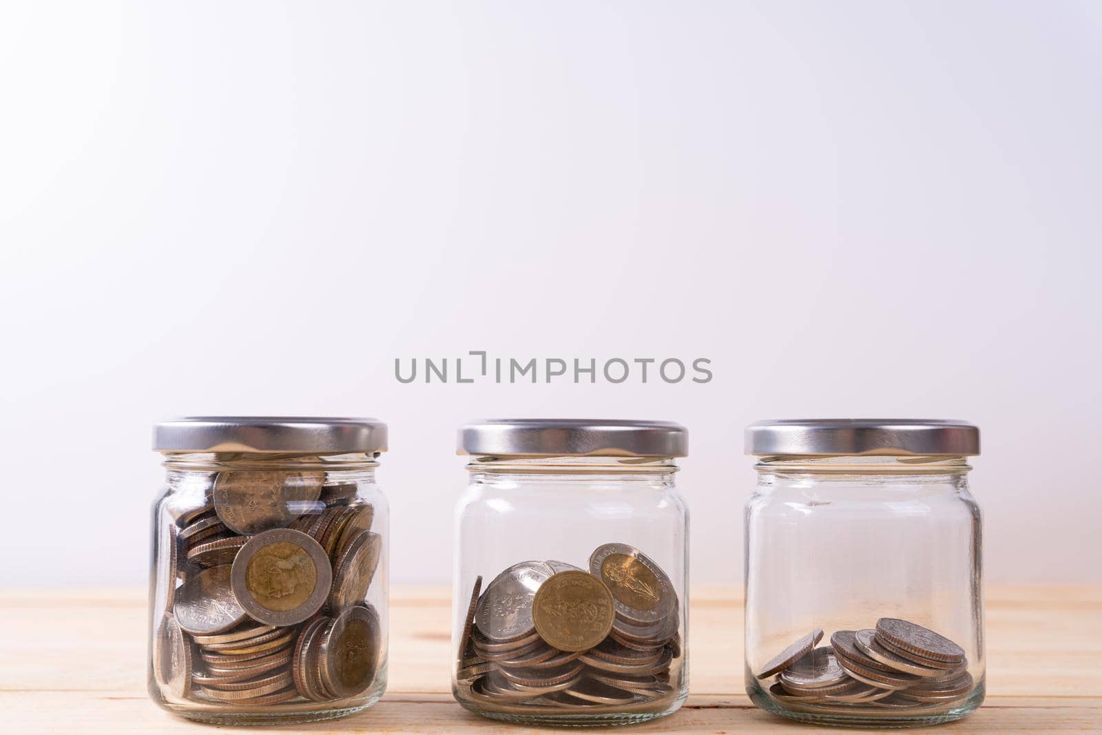
[[[616,608],[605,583],[586,572],[559,572],[548,577],[532,601],[536,630],[552,648],[584,651],[613,629]]]

